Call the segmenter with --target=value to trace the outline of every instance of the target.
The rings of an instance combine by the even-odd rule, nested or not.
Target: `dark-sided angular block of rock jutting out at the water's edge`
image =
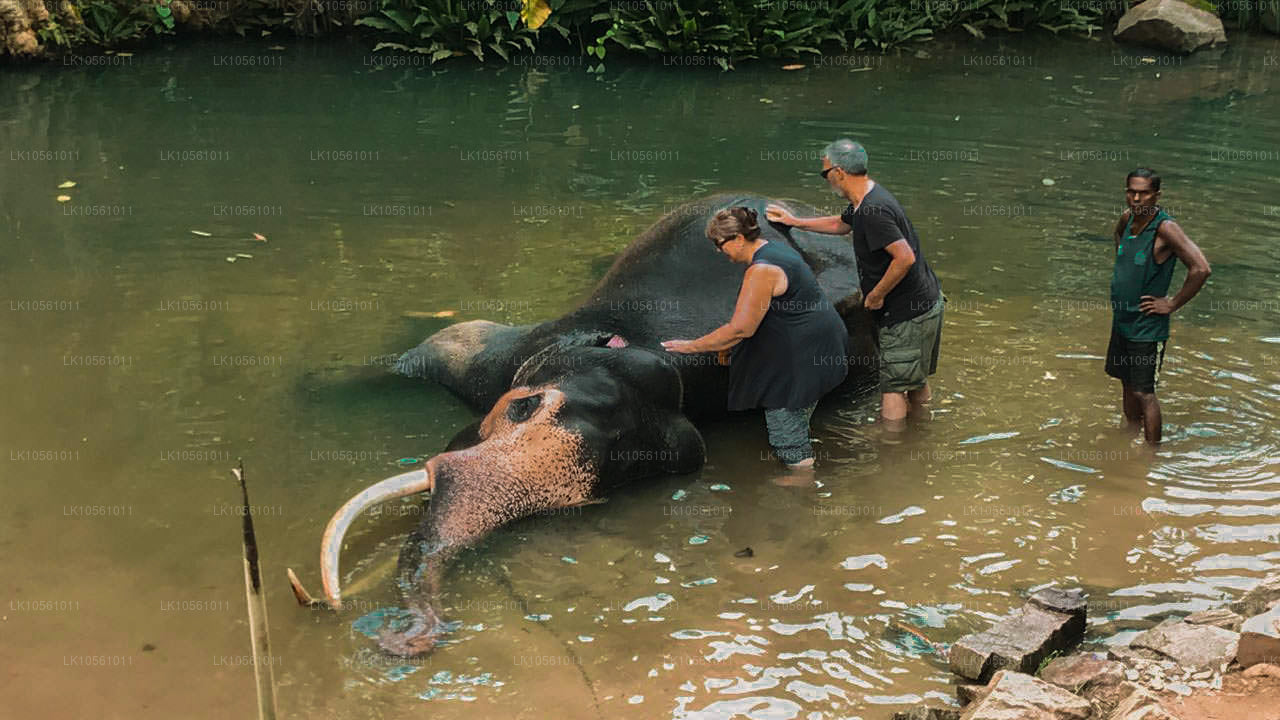
[[[984,633],[973,633],[951,646],[951,671],[988,682],[997,670],[1033,673],[1052,652],[1062,652],[1084,638],[1084,614],[1066,615],[1027,603]]]

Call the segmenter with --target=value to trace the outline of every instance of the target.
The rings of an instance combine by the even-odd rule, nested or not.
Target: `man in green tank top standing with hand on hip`
[[[1169,316],[1196,297],[1210,266],[1204,254],[1158,205],[1160,176],[1138,168],[1125,178],[1129,209],[1115,229],[1115,269],[1111,273],[1111,342],[1106,372],[1120,380],[1120,409],[1130,427],[1142,425],[1155,445],[1161,438],[1156,375],[1165,360]],[[1187,279],[1166,297],[1174,277],[1172,258],[1187,265]]]

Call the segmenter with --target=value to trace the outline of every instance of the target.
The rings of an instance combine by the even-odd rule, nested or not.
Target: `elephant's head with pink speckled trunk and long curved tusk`
[[[379,502],[431,493],[401,551],[397,583],[406,612],[380,639],[387,651],[412,656],[434,647],[445,630],[436,606],[440,582],[462,548],[512,520],[598,501],[630,480],[701,468],[705,447],[681,413],[684,387],[672,361],[617,336],[602,337],[534,354],[488,414],[444,452],[338,510],[321,550],[329,605],[342,602],[343,534]]]

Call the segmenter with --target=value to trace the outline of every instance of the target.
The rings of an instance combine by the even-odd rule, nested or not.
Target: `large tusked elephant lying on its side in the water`
[[[726,414],[728,369],[714,355],[672,355],[660,342],[699,337],[728,320],[742,268],[707,240],[708,219],[776,202],[717,195],[682,205],[634,241],[577,309],[536,325],[485,320],[444,328],[401,356],[396,370],[448,387],[485,413],[420,470],[356,495],[329,521],[321,547],[325,597],[340,607],[338,552],[364,510],[430,492],[401,551],[397,583],[406,623],[380,644],[428,652],[444,632],[436,612],[445,565],[490,530],[539,511],[590,503],[625,483],[701,468],[692,420]],[[846,387],[874,375],[874,325],[861,307],[847,240],[764,224],[764,238],[797,250],[849,331]],[[305,591],[296,584],[300,597]],[[407,625],[407,626],[403,626]]]

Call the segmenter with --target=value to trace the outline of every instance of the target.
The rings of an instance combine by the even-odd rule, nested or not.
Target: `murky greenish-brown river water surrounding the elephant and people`
[[[241,456],[285,717],[873,720],[952,694],[899,625],[951,642],[1059,583],[1089,589],[1107,639],[1236,594],[1280,560],[1280,49],[1233,42],[1181,64],[1025,38],[983,50],[1005,65],[934,45],[858,72],[603,78],[379,70],[343,44],[228,68],[211,56],[256,50],[220,42],[8,70],[5,707],[253,712]],[[349,610],[293,603],[284,569],[317,584],[329,515],[472,418],[387,377],[390,354],[562,314],[692,196],[838,211],[814,170],[844,133],[951,300],[932,421],[895,438],[869,401],[820,409],[812,488],[771,482],[758,418],[704,428],[701,473],[465,556],[461,628],[417,664],[365,634],[412,503],[348,536]],[[1101,369],[1106,238],[1138,164],[1213,264],[1174,319],[1155,454],[1116,429]]]

